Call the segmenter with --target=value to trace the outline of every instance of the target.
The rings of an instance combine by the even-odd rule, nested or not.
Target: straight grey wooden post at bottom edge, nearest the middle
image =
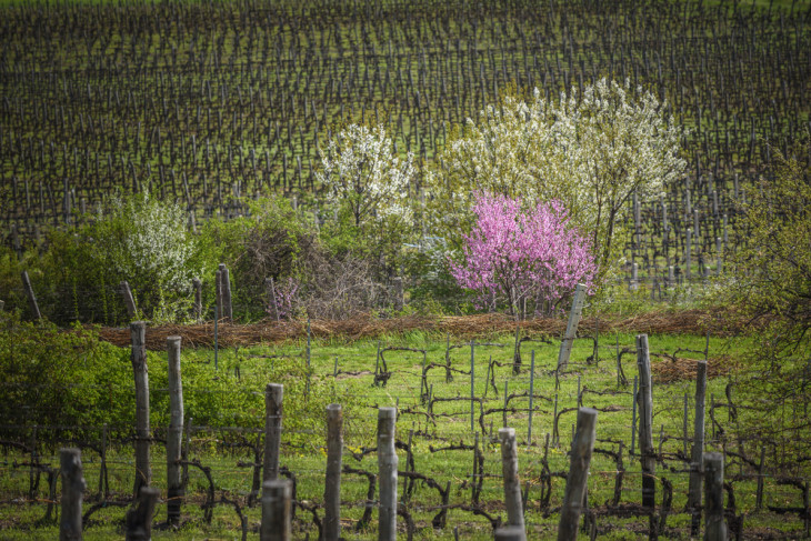
[[[397,408],[380,408],[378,410],[378,477],[380,482],[378,541],[397,541],[396,427]]]

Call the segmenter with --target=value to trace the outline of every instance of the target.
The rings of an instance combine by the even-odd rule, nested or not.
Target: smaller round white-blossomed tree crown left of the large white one
[[[320,151],[323,171],[317,178],[329,190],[330,201],[349,207],[356,226],[396,216],[411,221],[409,183],[415,174],[413,154],[394,156],[382,124],[351,124]]]

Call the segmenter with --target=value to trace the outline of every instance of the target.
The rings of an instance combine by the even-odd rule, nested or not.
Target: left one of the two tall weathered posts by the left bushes
[[[130,323],[132,338],[132,371],[136,378],[136,498],[143,487],[152,483],[149,464],[149,373],[147,371],[147,324],[143,321]]]

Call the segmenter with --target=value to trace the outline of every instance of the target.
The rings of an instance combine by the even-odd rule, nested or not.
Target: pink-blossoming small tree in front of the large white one
[[[475,193],[473,230],[464,236],[464,261],[451,262],[457,282],[492,304],[507,297],[519,315],[524,300],[535,310],[552,309],[578,283],[591,288],[595,264],[591,242],[570,223],[563,206],[552,200],[523,211],[520,199]]]

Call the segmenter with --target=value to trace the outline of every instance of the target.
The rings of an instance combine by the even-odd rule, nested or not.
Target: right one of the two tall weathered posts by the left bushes
[[[183,383],[180,378],[180,337],[167,338],[169,357],[169,431],[167,432],[167,521],[180,522],[183,499],[182,440],[183,440]]]

